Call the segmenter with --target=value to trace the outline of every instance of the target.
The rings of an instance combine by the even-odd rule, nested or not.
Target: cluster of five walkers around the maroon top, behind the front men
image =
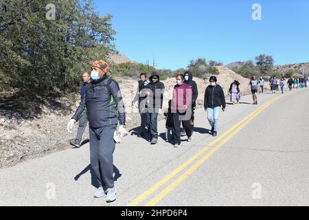
[[[217,85],[216,76],[211,76],[209,83],[210,85],[205,91],[204,107],[208,112],[207,118],[211,125],[211,135],[216,136],[218,133],[218,109],[222,107],[225,110],[225,94],[222,87]],[[158,142],[157,113],[163,106],[164,90],[165,85],[159,81],[159,74],[152,74],[148,81],[146,74],[143,73],[139,77],[137,94],[132,102],[133,106],[138,102],[141,116],[138,137],[146,137],[149,133],[151,144]],[[159,96],[160,98],[158,98]],[[175,148],[181,146],[181,136],[187,135],[187,142],[192,142],[197,98],[198,88],[192,73],[177,74],[172,100],[169,100],[168,109],[164,112],[165,141],[172,142],[174,140]]]

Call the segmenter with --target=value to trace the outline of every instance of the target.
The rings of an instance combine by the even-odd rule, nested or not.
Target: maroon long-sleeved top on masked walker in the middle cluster
[[[183,110],[184,106],[190,107],[192,104],[192,89],[189,85],[175,85],[172,99],[173,110]]]

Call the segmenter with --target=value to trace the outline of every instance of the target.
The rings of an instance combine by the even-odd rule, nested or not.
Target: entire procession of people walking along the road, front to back
[[[124,137],[128,134],[122,93],[118,83],[109,76],[109,66],[105,61],[94,61],[91,64],[91,74],[85,72],[82,79],[84,83],[80,89],[80,106],[67,123],[67,131],[71,133],[73,125],[78,121],[80,122],[76,139],[71,141],[74,147],[79,148],[82,133],[84,133],[87,122],[89,122],[91,167],[100,184],[94,193],[94,197],[105,196],[106,202],[113,202],[116,199],[113,152],[115,144],[119,141],[119,138],[116,137]],[[274,87],[274,85],[277,85],[276,80],[276,78],[273,78],[271,81],[273,90],[277,89]],[[288,80],[288,84],[290,82],[292,81]],[[304,87],[307,87],[308,78],[297,80],[297,87],[302,87],[302,83],[304,83]],[[294,80],[293,84],[295,85]],[[240,83],[235,80],[229,89],[233,103],[240,101],[239,86]],[[257,80],[253,76],[249,86],[253,94],[253,104],[258,104],[258,87],[260,87],[260,93],[263,93],[264,79],[261,77]],[[141,126],[138,136],[146,137],[147,134],[150,134],[151,144],[158,142],[157,122],[159,110],[163,107],[164,91],[165,85],[160,81],[157,72],[154,72],[149,80],[147,74],[140,75],[137,94],[132,105],[134,106],[137,102],[139,104]],[[193,80],[192,73],[177,74],[172,100],[168,102],[168,111],[164,113],[166,118],[165,140],[170,142],[174,139],[175,148],[181,146],[182,135],[187,135],[187,142],[192,142],[197,98],[198,88]],[[226,109],[225,94],[222,87],[218,85],[216,76],[209,78],[209,86],[205,89],[204,94],[204,109],[207,112],[207,120],[211,128],[210,133],[216,137],[218,135],[220,110],[225,111]]]

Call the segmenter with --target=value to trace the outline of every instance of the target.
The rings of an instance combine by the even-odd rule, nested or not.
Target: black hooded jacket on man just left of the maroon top
[[[157,76],[157,78],[159,79],[157,83],[152,83],[152,78],[154,76]],[[152,76],[150,76],[150,83],[148,83],[146,89],[150,91],[150,102],[148,104],[148,107],[156,107],[157,109],[162,109],[165,86],[163,83],[160,82],[159,74],[153,73]]]

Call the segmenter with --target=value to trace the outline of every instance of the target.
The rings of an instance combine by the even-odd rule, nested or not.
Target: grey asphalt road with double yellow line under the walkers
[[[308,206],[309,89],[258,99],[228,105],[216,138],[203,109],[193,142],[184,138],[181,148],[161,138],[151,146],[134,132],[124,138],[114,154],[114,203],[93,198],[85,144],[1,169],[0,206]]]

